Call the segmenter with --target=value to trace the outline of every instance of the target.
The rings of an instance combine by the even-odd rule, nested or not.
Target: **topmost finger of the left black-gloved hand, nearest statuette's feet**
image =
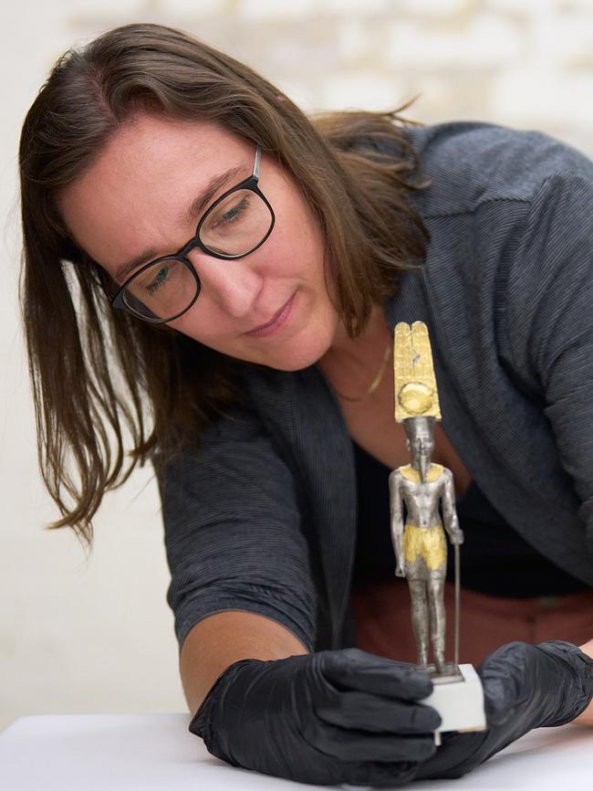
[[[376,657],[360,649],[328,651],[322,671],[334,686],[343,690],[373,692],[404,701],[426,698],[432,692],[428,674],[414,665]]]

